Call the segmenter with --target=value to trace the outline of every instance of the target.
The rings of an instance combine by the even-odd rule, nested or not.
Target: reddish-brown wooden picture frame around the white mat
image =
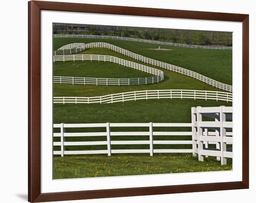
[[[243,180],[141,188],[41,193],[40,190],[40,10],[109,13],[243,22]],[[249,15],[120,7],[50,1],[28,2],[28,201],[49,202],[249,188]]]

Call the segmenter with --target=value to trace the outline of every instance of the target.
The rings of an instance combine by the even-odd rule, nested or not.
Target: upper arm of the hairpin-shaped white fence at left
[[[147,72],[149,74],[157,75],[160,76],[161,81],[164,79],[163,72],[152,68],[148,67],[146,65],[141,65],[137,64],[135,62],[131,62],[128,60],[120,59],[115,56],[106,56],[106,55],[91,55],[91,54],[77,54],[77,55],[62,55],[62,56],[54,56],[54,62],[55,61],[85,61],[85,60],[90,60],[90,61],[108,61],[108,62],[113,62],[119,65],[124,65],[142,72]]]

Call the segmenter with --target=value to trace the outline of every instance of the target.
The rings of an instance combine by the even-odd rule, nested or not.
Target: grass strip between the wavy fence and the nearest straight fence
[[[203,99],[149,99],[114,104],[54,104],[54,123],[189,123],[191,107],[232,106]]]

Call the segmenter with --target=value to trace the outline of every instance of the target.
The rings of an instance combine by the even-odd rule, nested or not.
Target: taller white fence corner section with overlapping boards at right
[[[232,158],[232,149],[227,149],[227,144],[233,144],[232,111],[232,107],[225,106],[191,108],[193,155],[199,161],[203,161],[203,156],[215,156],[225,165],[227,158]],[[203,121],[204,117],[214,121]],[[209,144],[216,147],[209,148]]]

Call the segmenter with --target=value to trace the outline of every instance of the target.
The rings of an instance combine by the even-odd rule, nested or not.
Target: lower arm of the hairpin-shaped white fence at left
[[[150,85],[161,82],[161,76],[148,78],[82,78],[54,76],[54,83],[77,85]]]

